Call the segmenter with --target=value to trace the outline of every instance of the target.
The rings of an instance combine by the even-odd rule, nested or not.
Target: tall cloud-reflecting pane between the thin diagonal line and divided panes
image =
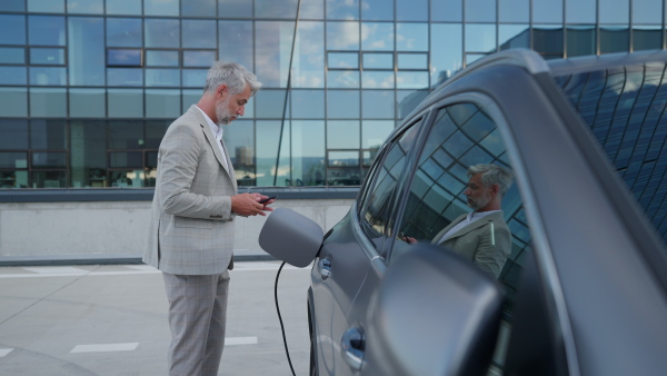
[[[291,66],[293,88],[325,87],[325,29],[322,22],[299,22]]]

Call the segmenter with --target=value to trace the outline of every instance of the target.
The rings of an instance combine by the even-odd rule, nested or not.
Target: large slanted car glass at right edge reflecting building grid
[[[667,243],[667,73],[651,62],[556,77]]]

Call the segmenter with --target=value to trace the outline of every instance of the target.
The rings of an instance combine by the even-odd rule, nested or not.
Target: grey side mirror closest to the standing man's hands
[[[311,219],[290,209],[277,208],[259,232],[259,246],[269,255],[302,268],[312,263],[323,237],[322,228]]]

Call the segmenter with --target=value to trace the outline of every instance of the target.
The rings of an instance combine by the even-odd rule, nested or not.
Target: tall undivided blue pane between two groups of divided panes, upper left
[[[68,68],[72,86],[104,85],[104,20],[69,17]]]

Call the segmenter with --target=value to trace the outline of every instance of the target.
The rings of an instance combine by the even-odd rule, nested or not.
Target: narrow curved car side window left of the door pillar
[[[364,232],[378,249],[382,239],[392,236],[391,216],[395,211],[396,191],[418,128],[412,125],[385,149],[381,158],[376,160],[368,178],[368,187],[364,191],[359,221]]]

